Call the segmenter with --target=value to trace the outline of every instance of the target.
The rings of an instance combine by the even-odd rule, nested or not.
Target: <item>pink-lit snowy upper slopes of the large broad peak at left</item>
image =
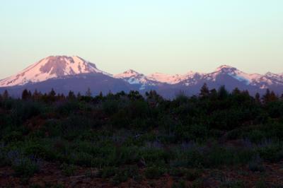
[[[14,76],[4,78],[0,81],[0,87],[21,86],[26,83],[46,81],[50,78],[91,73],[106,74],[97,69],[95,64],[77,56],[50,56],[28,66]]]

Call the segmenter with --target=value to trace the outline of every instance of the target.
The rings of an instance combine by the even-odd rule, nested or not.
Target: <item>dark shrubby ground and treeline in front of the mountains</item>
[[[283,95],[0,95],[3,187],[283,187]],[[1,186],[0,186],[1,187]]]

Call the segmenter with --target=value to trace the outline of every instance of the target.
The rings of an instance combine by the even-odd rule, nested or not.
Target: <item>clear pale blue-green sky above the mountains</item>
[[[0,0],[0,78],[60,54],[111,74],[283,72],[283,1]]]

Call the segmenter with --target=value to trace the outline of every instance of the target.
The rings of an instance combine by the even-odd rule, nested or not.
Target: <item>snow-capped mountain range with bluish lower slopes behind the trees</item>
[[[187,74],[144,75],[129,69],[122,74],[112,75],[81,57],[50,56],[16,75],[0,80],[0,93],[8,90],[10,95],[18,97],[25,88],[42,93],[54,88],[57,93],[65,94],[69,90],[84,93],[91,88],[93,95],[122,90],[139,90],[140,93],[156,90],[166,98],[173,98],[180,91],[186,95],[195,95],[204,83],[210,89],[224,85],[228,90],[239,88],[248,90],[253,95],[265,93],[267,88],[277,94],[283,92],[283,74],[247,74],[228,65],[219,66],[211,73],[188,71]]]

